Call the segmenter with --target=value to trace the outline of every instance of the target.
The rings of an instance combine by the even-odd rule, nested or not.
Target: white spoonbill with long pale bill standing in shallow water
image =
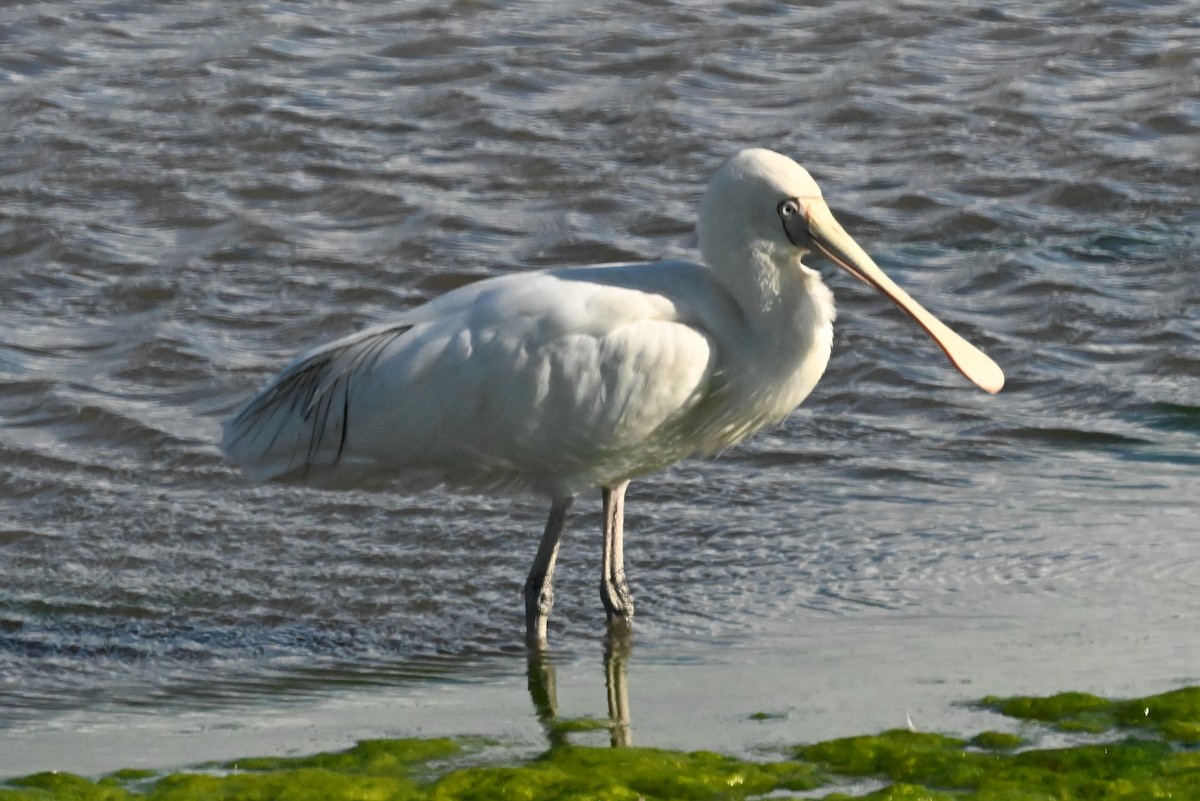
[[[802,257],[820,251],[907,312],[968,379],[1003,385],[991,359],[876,266],[791,158],[733,156],[704,193],[698,230],[704,265],[488,278],[311,350],[226,424],[224,451],[258,480],[548,495],[524,585],[538,646],[575,495],[604,494],[600,597],[610,621],[628,620],[630,478],[780,422],[821,378],[833,295]]]

